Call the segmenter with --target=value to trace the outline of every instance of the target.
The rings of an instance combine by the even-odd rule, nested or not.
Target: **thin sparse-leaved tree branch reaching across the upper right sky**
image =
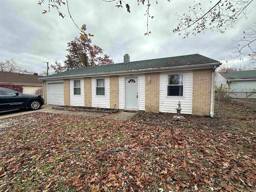
[[[182,16],[176,13],[179,20],[178,26],[173,30],[174,33],[184,38],[188,37],[190,32],[193,35],[204,32],[207,28],[224,33],[227,27],[233,27],[241,18],[246,18],[247,7],[253,0],[218,0],[216,4],[209,6],[206,11],[200,3],[190,7],[188,13]],[[199,15],[199,16],[198,16]]]

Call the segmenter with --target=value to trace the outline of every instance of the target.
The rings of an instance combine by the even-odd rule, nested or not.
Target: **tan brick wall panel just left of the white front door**
[[[110,108],[118,109],[118,76],[110,76]]]

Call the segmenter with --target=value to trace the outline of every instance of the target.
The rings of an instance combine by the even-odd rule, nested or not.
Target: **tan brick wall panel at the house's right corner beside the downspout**
[[[194,115],[210,115],[212,69],[194,70],[193,111]]]

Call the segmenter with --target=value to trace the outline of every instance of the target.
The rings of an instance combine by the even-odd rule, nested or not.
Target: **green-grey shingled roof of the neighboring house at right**
[[[219,72],[225,79],[255,79],[256,70]]]

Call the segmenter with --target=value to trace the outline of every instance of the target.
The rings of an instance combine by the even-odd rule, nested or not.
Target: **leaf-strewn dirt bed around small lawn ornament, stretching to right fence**
[[[216,110],[215,110],[216,112]],[[235,104],[221,103],[218,114],[210,116],[197,116],[182,114],[184,119],[175,118],[176,114],[142,112],[134,116],[134,122],[152,126],[165,126],[175,128],[197,128],[215,130],[250,130],[256,128],[256,111],[245,109]]]

